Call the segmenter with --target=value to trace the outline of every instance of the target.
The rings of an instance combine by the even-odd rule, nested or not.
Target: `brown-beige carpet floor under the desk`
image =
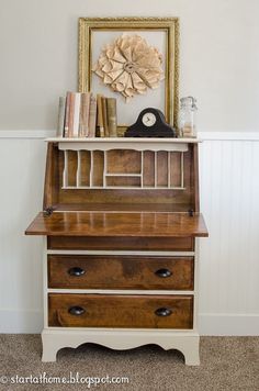
[[[40,335],[0,335],[0,390],[259,390],[259,337],[202,337],[199,367],[188,367],[179,351],[155,345],[119,351],[86,344],[59,350],[56,362],[42,362],[41,350]],[[70,379],[70,373],[74,378],[123,377],[128,383],[94,386],[89,379],[55,383],[57,377]],[[24,383],[31,376],[33,383]],[[41,376],[45,383],[37,383]]]

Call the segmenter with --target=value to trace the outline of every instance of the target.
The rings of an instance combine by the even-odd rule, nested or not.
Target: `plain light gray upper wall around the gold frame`
[[[259,130],[258,0],[0,0],[0,130],[53,130],[77,88],[79,16],[180,16],[181,96],[200,131]]]

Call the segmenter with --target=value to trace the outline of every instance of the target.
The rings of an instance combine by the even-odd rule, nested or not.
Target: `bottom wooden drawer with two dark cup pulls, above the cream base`
[[[192,328],[193,297],[50,293],[48,325]]]

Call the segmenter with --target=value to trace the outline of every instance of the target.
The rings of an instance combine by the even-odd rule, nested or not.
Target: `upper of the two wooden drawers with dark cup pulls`
[[[193,289],[193,257],[49,255],[48,287]]]

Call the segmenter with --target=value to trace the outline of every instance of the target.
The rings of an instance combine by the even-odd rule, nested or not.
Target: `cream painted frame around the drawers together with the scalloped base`
[[[86,343],[100,344],[112,349],[124,350],[136,348],[138,346],[155,344],[165,350],[180,350],[184,358],[185,365],[200,365],[200,336],[196,332],[198,320],[198,248],[199,239],[195,239],[195,252],[122,252],[122,250],[48,250],[45,242],[44,252],[44,329],[42,332],[43,356],[42,360],[56,361],[57,351],[64,347],[76,348]],[[47,255],[48,254],[112,254],[112,255],[168,255],[168,256],[193,256],[194,257],[194,291],[137,291],[137,290],[67,290],[67,289],[48,289],[47,283]],[[153,328],[82,328],[82,327],[48,327],[48,293],[117,293],[117,294],[193,294],[193,328],[192,329],[153,329]]]

